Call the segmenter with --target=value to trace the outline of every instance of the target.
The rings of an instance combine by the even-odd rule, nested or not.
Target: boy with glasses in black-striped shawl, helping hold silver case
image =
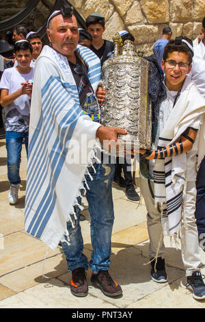
[[[161,67],[165,72],[166,98],[159,104],[152,151],[141,151],[149,160],[148,175],[141,175],[141,192],[148,210],[151,278],[167,282],[163,259],[163,234],[182,245],[187,287],[195,299],[205,299],[200,273],[200,249],[195,224],[197,149],[205,100],[191,83],[193,48],[178,37],[165,47]],[[154,132],[154,131],[153,131]],[[154,150],[154,151],[153,151]],[[143,161],[141,160],[141,161]]]

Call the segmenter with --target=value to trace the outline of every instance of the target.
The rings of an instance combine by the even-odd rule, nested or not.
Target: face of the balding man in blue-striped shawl
[[[66,56],[73,55],[79,42],[79,30],[75,16],[65,18],[55,16],[47,29],[47,35],[53,49]]]

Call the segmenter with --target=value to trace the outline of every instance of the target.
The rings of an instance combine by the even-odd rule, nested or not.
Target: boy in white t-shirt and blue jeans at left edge
[[[30,67],[33,49],[27,40],[14,45],[14,58],[18,65],[3,72],[1,106],[5,108],[5,140],[7,149],[8,179],[10,181],[9,201],[18,200],[20,185],[19,167],[23,138],[28,151],[29,113],[33,69]]]

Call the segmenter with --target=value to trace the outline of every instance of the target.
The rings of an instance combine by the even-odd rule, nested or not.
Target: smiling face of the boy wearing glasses
[[[175,63],[183,63],[176,64]],[[173,51],[168,54],[166,60],[162,60],[161,67],[165,71],[165,84],[169,90],[180,90],[184,83],[184,79],[191,71],[191,64],[189,64],[189,55],[178,51]]]

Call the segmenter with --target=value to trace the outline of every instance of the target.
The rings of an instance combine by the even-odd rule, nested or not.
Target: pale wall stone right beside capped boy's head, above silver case
[[[105,23],[105,32],[103,33],[103,38],[108,40],[113,40],[113,36],[115,36],[116,32],[120,32],[120,30],[124,30],[124,22],[120,15],[117,12],[114,12],[109,21]]]

